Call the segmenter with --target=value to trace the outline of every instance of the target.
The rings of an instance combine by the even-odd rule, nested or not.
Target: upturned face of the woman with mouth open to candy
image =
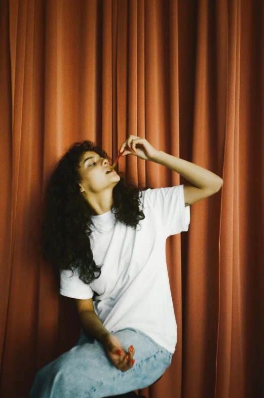
[[[85,152],[82,155],[79,169],[81,192],[99,193],[107,188],[114,188],[120,181],[120,176],[115,170],[106,174],[110,166],[108,159],[100,157],[98,153]]]

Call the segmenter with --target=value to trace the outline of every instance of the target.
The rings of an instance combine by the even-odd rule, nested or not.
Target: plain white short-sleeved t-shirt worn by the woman
[[[183,184],[146,189],[140,198],[145,218],[136,229],[118,222],[109,233],[94,226],[90,235],[96,265],[101,275],[87,285],[79,279],[78,268],[60,276],[60,294],[89,299],[96,292],[94,309],[110,332],[125,328],[142,331],[174,353],[177,325],[166,264],[166,239],[188,230],[190,206],[184,207]],[[104,231],[114,226],[115,208],[91,216]],[[98,275],[98,273],[96,273]]]

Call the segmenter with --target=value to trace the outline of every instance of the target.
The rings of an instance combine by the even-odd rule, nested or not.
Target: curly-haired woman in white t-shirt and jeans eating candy
[[[123,394],[153,384],[171,364],[177,325],[166,238],[188,229],[190,205],[216,193],[222,179],[137,136],[120,152],[191,184],[126,186],[90,141],[61,158],[46,190],[41,243],[60,294],[76,300],[83,329],[73,348],[36,373],[30,398]]]

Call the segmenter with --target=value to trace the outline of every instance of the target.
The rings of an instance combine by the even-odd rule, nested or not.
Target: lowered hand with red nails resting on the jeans
[[[133,367],[135,362],[135,360],[133,360],[135,353],[133,345],[126,351],[119,339],[111,333],[107,333],[103,337],[102,344],[112,364],[114,364],[117,369],[121,370],[121,372],[126,372]],[[132,351],[130,351],[130,349],[132,349]],[[133,363],[132,360],[134,361]]]

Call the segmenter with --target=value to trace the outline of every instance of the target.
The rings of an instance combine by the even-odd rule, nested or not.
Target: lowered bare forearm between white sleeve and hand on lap
[[[103,344],[104,338],[109,332],[103,326],[96,312],[92,310],[83,311],[79,314],[79,317],[84,329]]]

